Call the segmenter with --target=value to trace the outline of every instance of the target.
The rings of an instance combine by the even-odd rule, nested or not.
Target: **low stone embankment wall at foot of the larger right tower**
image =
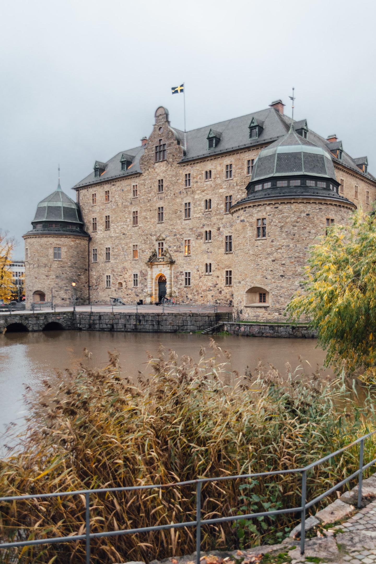
[[[313,339],[317,333],[308,325],[272,325],[267,323],[232,323],[226,321],[223,331],[243,337],[284,337]]]

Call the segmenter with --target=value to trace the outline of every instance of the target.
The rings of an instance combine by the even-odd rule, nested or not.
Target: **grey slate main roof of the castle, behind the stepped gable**
[[[277,100],[277,102],[279,101],[280,100]],[[249,124],[253,117],[258,124],[263,122],[263,130],[257,138],[250,139]],[[300,124],[305,123],[306,120],[295,121],[294,129],[301,129]],[[187,131],[185,134],[183,131],[176,129],[175,127],[171,127],[170,125],[169,128],[173,131],[175,139],[179,140],[185,151],[185,155],[180,162],[187,162],[200,157],[219,155],[234,149],[258,146],[263,143],[271,143],[280,138],[282,135],[285,135],[287,131],[289,131],[290,125],[290,117],[282,116],[275,108],[267,108],[259,112],[232,118],[231,120],[220,121],[216,124],[199,127],[198,129]],[[207,148],[207,134],[210,129],[220,131],[221,133],[220,143],[213,149]],[[308,130],[307,139],[325,150],[328,150],[329,148],[329,142],[320,135],[317,135],[314,131]],[[120,158],[123,153],[133,157],[132,165],[127,170],[121,170]],[[142,171],[140,169],[139,161],[143,154],[144,147],[142,146],[121,151],[114,157],[110,158],[107,163],[104,163],[107,166],[105,172],[99,178],[95,178],[94,171],[92,171],[91,174],[81,180],[81,182],[78,182],[73,188],[89,186],[90,184],[100,183],[104,180],[122,178],[135,173],[141,173]],[[343,151],[342,153],[342,161],[339,161],[334,155],[331,155],[331,158],[334,162],[342,163],[344,166],[356,171],[358,174],[361,174],[370,180],[375,180],[370,173],[363,173],[357,167],[353,158],[351,158],[346,152]]]

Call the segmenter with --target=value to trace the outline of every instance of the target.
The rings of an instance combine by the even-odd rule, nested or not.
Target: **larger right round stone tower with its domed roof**
[[[241,319],[286,320],[285,308],[304,279],[309,246],[356,209],[338,187],[329,152],[292,127],[260,151],[247,196],[231,208],[233,304]]]

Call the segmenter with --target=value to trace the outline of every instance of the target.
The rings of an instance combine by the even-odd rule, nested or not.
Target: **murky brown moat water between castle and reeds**
[[[91,367],[107,364],[107,351],[117,350],[123,374],[135,380],[138,371],[151,373],[145,351],[153,355],[158,345],[175,350],[180,356],[199,359],[201,346],[209,347],[209,336],[183,333],[107,333],[78,331],[49,331],[36,333],[0,334],[0,445],[2,434],[10,422],[21,424],[25,415],[24,384],[38,390],[41,381],[56,371],[76,368],[87,363],[83,349],[92,352]],[[253,371],[262,359],[265,365],[275,366],[285,374],[285,363],[293,369],[300,365],[300,373],[311,374],[322,367],[325,353],[316,348],[316,340],[267,337],[215,336],[222,350],[231,353],[231,368],[244,374]],[[299,355],[304,359],[299,362]],[[309,363],[309,364],[308,364]],[[311,365],[311,366],[310,366]],[[326,371],[329,372],[329,371]]]

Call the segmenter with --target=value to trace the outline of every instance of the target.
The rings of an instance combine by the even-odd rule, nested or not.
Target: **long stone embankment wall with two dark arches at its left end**
[[[48,323],[58,323],[62,329],[81,331],[134,331],[143,333],[174,333],[204,331],[216,323],[215,313],[112,313],[108,312],[36,312],[33,314],[1,314],[0,332],[43,331]],[[22,327],[15,327],[19,324]],[[13,325],[13,327],[10,327]],[[57,327],[55,327],[57,328]],[[47,327],[48,329],[48,327]]]

